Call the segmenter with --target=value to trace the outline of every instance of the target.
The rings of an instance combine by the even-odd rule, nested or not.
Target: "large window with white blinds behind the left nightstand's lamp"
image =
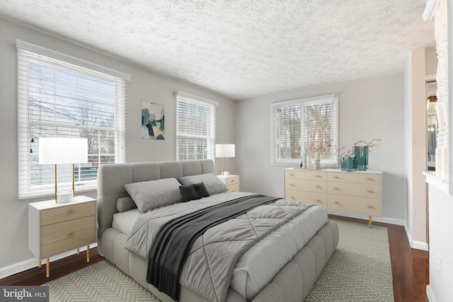
[[[55,193],[55,165],[38,164],[40,137],[88,139],[88,163],[74,169],[76,191],[96,189],[99,165],[125,162],[130,76],[21,40],[16,46],[18,198]],[[71,187],[72,165],[57,168],[58,190]]]

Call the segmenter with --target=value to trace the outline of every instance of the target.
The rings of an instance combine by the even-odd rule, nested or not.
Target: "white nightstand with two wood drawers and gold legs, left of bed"
[[[77,196],[74,201],[55,200],[28,204],[28,248],[38,258],[47,258],[46,277],[50,276],[49,257],[86,245],[90,262],[90,243],[96,241],[96,199]]]

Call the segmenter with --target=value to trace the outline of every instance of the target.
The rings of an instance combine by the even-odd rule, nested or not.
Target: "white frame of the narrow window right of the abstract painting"
[[[178,112],[178,106],[179,106],[179,102],[186,102],[186,103],[192,103],[194,105],[201,105],[201,106],[204,106],[204,107],[207,107],[209,108],[210,110],[213,110],[213,112],[210,112],[209,115],[210,115],[210,125],[209,125],[209,133],[205,136],[201,136],[200,134],[188,134],[188,133],[180,133],[180,131],[182,129],[180,129],[180,113]],[[176,158],[176,161],[188,161],[188,160],[199,160],[199,159],[212,159],[214,160],[215,158],[215,144],[216,144],[216,139],[217,139],[217,109],[219,107],[219,103],[214,101],[214,100],[210,100],[210,99],[207,99],[207,98],[202,98],[200,96],[197,96],[197,95],[193,95],[193,94],[190,94],[190,93],[185,93],[183,91],[175,91],[175,124],[176,124],[176,127],[175,127],[175,158]],[[197,156],[198,153],[195,153],[195,156],[185,156],[185,158],[183,158],[182,156],[180,156],[179,154],[179,147],[180,147],[180,144],[179,144],[179,141],[180,141],[180,137],[191,137],[192,139],[206,139],[207,140],[207,156],[204,157],[200,157],[200,156]]]

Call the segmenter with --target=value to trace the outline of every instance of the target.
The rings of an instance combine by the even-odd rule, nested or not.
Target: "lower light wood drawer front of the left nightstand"
[[[96,241],[94,215],[41,227],[41,257],[79,248]]]

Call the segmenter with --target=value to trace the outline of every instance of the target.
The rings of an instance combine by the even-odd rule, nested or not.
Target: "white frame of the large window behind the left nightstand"
[[[33,137],[33,141],[30,139],[32,136],[31,129],[33,125],[35,127],[55,127],[55,129],[96,129],[97,131],[109,131],[114,133],[115,143],[115,163],[125,163],[125,129],[126,129],[126,103],[127,103],[127,81],[130,81],[130,75],[124,74],[108,67],[94,64],[92,62],[85,61],[76,57],[72,57],[68,54],[63,54],[55,50],[50,50],[39,45],[34,45],[29,42],[22,40],[16,40],[16,47],[18,50],[18,199],[28,199],[33,197],[44,197],[55,194],[55,180],[52,180],[52,184],[33,185],[32,183],[32,159],[30,156],[33,146],[39,144],[38,138]],[[25,65],[21,65],[25,62]],[[78,74],[86,74],[89,76],[96,76],[96,79],[102,79],[113,82],[114,90],[114,105],[112,106],[113,116],[115,122],[113,127],[101,127],[101,126],[85,126],[76,124],[61,124],[55,120],[54,122],[35,122],[30,120],[30,108],[34,105],[30,105],[30,74],[28,68],[31,62],[38,62],[38,64],[47,64],[50,66],[62,68],[62,70],[75,71]],[[62,66],[58,64],[61,63]],[[23,69],[23,70],[21,70]],[[78,84],[76,84],[78,87]],[[64,96],[64,95],[63,95]],[[96,98],[96,104],[99,103],[99,99]],[[34,102],[37,103],[37,102]],[[37,103],[38,106],[42,106],[41,103]],[[58,130],[57,130],[58,131]],[[58,134],[57,134],[58,135]],[[57,136],[56,135],[56,136]],[[99,134],[98,134],[99,135]],[[39,148],[38,148],[39,153]],[[98,150],[97,156],[101,158],[101,150]],[[95,156],[91,154],[91,157]],[[89,156],[88,156],[89,157]],[[99,160],[98,165],[101,165]],[[77,175],[79,175],[80,168],[86,168],[83,164],[76,165]],[[52,168],[55,170],[55,168]],[[71,165],[58,165],[57,167],[59,176],[62,171],[68,173],[71,170]],[[70,172],[69,172],[70,173]],[[38,173],[39,182],[45,177],[42,173]],[[83,174],[81,174],[83,175]],[[97,179],[93,180],[79,180],[76,182],[76,192],[96,190]],[[71,183],[58,182],[58,190],[71,189]]]

